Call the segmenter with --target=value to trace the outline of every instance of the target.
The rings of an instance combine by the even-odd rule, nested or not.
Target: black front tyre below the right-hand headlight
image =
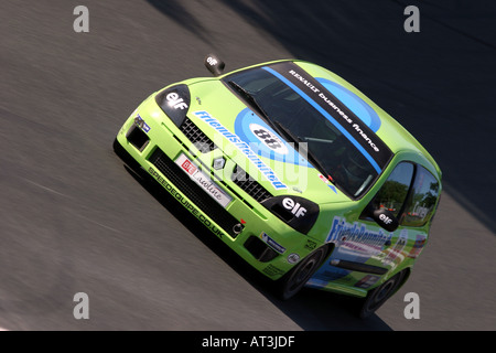
[[[278,284],[279,297],[282,300],[294,297],[303,288],[310,277],[312,277],[319,267],[321,267],[326,254],[326,248],[320,247],[285,274]]]

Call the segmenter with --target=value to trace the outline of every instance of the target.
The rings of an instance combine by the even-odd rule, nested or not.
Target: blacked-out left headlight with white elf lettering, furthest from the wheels
[[[169,87],[155,96],[159,107],[180,127],[186,118],[190,108],[190,89],[186,85]]]

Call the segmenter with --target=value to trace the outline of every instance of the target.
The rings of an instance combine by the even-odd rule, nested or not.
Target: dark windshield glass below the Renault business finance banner
[[[342,129],[270,71],[259,67],[224,79],[231,87],[242,87],[244,94],[239,89],[237,94],[261,108],[263,118],[278,126],[287,141],[294,142],[295,138],[299,150],[305,149],[312,157],[309,162],[346,194],[358,197],[376,180],[377,168]],[[247,94],[251,99],[246,99]]]

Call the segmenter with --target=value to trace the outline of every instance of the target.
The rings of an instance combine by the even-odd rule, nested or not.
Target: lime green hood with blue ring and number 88
[[[298,152],[222,81],[201,78],[187,85],[187,117],[269,193],[317,204],[349,201],[308,161],[304,151]]]

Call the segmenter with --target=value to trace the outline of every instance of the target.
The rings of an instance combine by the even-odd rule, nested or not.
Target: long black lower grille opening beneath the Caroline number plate
[[[160,148],[155,149],[149,160],[176,189],[190,199],[203,213],[207,214],[224,232],[233,238],[236,237],[237,234],[233,231],[233,227],[239,224],[239,221],[230,215],[214,199],[208,196]]]

